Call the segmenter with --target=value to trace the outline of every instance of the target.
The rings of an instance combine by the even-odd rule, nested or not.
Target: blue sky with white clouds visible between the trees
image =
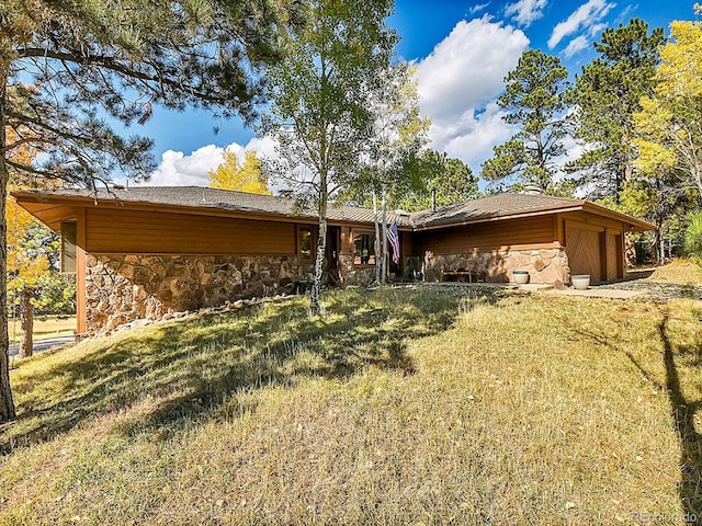
[[[513,134],[496,104],[505,76],[530,48],[557,55],[570,75],[595,56],[592,43],[605,27],[632,18],[664,27],[693,20],[693,1],[512,0],[461,2],[396,0],[388,21],[401,37],[399,57],[418,66],[422,113],[432,119],[430,147],[465,161],[479,173],[492,147]],[[214,128],[219,127],[215,134]],[[135,134],[155,139],[158,170],[147,184],[207,184],[207,171],[225,149],[253,148],[273,155],[273,144],[256,138],[239,121],[224,123],[205,111],[158,110]],[[569,145],[577,155],[577,145]]]

